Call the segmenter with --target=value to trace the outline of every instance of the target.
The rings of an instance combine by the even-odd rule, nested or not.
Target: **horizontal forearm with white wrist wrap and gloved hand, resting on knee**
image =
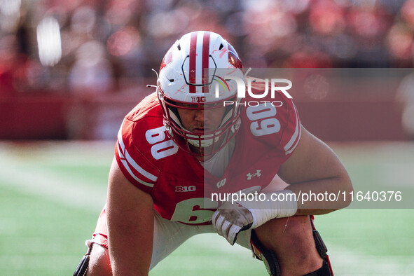
[[[240,230],[257,228],[272,219],[302,214],[326,214],[346,207],[350,204],[347,195],[352,191],[352,184],[345,170],[339,175],[341,177],[293,184],[282,191],[267,191],[258,195],[256,200],[242,198],[232,203],[226,202],[212,216],[214,229],[233,245]],[[320,196],[315,196],[314,201],[303,200],[303,195],[310,193],[322,194],[328,200],[324,201]],[[329,201],[331,194],[339,194],[343,198]]]

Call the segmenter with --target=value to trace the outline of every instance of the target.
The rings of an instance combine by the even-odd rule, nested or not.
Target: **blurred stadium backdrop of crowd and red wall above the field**
[[[401,92],[414,61],[414,0],[4,0],[0,139],[115,139],[125,113],[153,92],[151,69],[199,29],[228,39],[244,67],[403,68],[364,84],[350,74],[328,90],[323,80],[319,90],[296,85],[293,95],[322,139],[414,137],[403,123],[413,85]]]

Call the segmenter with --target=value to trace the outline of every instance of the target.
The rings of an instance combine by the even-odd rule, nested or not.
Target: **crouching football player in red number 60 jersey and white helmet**
[[[106,206],[75,275],[148,275],[199,233],[251,249],[270,275],[332,275],[312,218],[350,199],[298,197],[349,194],[350,178],[301,125],[289,97],[249,104],[250,95],[237,97],[236,79],[256,94],[267,89],[244,78],[240,57],[219,34],[191,32],[167,51],[156,92],[120,127]],[[278,177],[286,184],[273,185]]]

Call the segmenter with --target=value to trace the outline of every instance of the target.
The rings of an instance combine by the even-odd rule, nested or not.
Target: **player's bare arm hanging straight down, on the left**
[[[107,216],[113,275],[148,275],[153,250],[153,200],[126,179],[113,159]]]

